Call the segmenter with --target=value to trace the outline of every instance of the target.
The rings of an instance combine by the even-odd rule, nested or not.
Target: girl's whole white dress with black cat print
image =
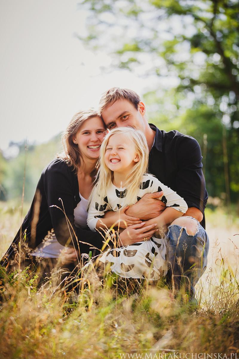
[[[127,188],[118,188],[111,183],[106,191],[103,203],[99,203],[97,195],[92,199],[87,218],[87,224],[91,230],[95,230],[97,221],[104,216],[105,211],[118,211],[120,209],[126,191]],[[135,203],[146,193],[159,191],[163,191],[161,201],[167,207],[186,213],[188,207],[183,198],[171,188],[163,185],[152,174],[144,174]],[[123,278],[158,280],[167,274],[167,243],[164,238],[151,237],[148,241],[109,249],[99,259],[105,264],[110,263],[111,270]]]

